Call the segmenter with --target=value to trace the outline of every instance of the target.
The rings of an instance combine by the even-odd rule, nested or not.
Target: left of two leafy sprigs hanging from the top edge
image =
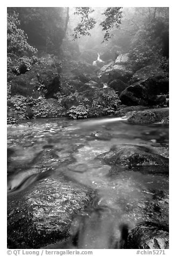
[[[91,7],[76,7],[75,15],[80,15],[81,20],[80,23],[75,27],[74,34],[72,34],[73,39],[80,38],[81,35],[90,35],[90,30],[96,24],[96,20],[94,18],[90,18],[90,13],[94,12]]]

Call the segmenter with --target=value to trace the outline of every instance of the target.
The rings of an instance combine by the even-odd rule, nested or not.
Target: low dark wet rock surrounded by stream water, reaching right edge
[[[122,146],[98,155],[98,159],[103,160],[108,165],[120,165],[123,167],[134,166],[160,166],[168,167],[168,159],[159,154],[153,153],[143,146]]]

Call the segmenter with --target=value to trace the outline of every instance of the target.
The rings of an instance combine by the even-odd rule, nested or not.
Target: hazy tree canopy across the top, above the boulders
[[[168,69],[168,8],[8,8],[8,54],[60,55],[76,45],[128,52],[134,70],[151,62]]]

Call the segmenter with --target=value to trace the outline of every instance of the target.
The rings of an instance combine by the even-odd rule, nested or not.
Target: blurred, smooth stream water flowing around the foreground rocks
[[[130,125],[125,118],[37,119],[16,127],[9,126],[8,143],[9,148],[15,150],[8,172],[11,189],[18,187],[18,184],[20,186],[23,180],[19,169],[24,170],[31,159],[43,149],[52,149],[59,161],[56,162],[54,158],[50,161],[48,168],[53,166],[53,170],[50,170],[49,175],[59,180],[62,173],[65,180],[95,189],[96,207],[111,209],[111,224],[115,222],[114,218],[118,218],[118,223],[126,223],[132,228],[138,222],[149,220],[146,205],[155,201],[153,195],[156,191],[168,194],[168,177],[160,169],[153,174],[150,172],[152,167],[148,167],[149,171],[112,168],[96,159],[97,155],[116,145],[152,147],[153,144],[167,144],[168,127],[162,124]],[[28,169],[27,172],[33,174],[33,169]],[[13,182],[15,184],[12,186]],[[29,183],[32,182],[36,182],[35,177],[30,179]],[[22,189],[25,186],[28,186],[27,179],[23,182]],[[106,214],[104,219],[107,216]],[[93,223],[98,230],[96,218]],[[101,230],[108,229],[105,223],[107,222],[101,225]]]

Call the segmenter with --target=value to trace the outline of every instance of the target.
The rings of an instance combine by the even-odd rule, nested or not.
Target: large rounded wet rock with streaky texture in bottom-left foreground
[[[91,202],[91,190],[48,178],[8,202],[8,247],[40,248],[69,236],[72,219]]]

